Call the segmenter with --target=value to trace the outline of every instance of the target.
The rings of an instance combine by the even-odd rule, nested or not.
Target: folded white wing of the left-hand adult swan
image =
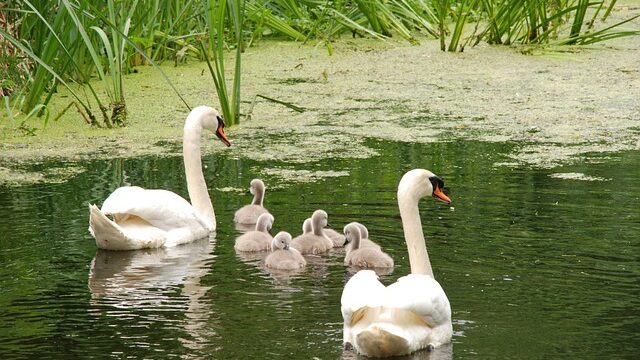
[[[167,190],[120,187],[104,201],[101,211],[105,214],[135,215],[163,230],[207,228],[187,200]]]

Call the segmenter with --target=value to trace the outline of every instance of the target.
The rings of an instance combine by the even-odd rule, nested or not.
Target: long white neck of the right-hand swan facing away
[[[404,230],[404,240],[407,243],[409,252],[409,263],[412,274],[423,274],[433,276],[427,244],[422,232],[422,222],[418,209],[419,198],[407,193],[398,193],[398,207],[400,217],[402,217],[402,228]]]

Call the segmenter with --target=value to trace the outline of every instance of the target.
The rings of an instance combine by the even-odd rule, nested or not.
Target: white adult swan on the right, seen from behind
[[[398,185],[411,274],[385,287],[375,272],[362,270],[344,287],[344,344],[362,355],[405,355],[451,341],[451,306],[433,277],[418,211],[426,196],[450,203],[443,187],[442,179],[423,169],[407,172]]]

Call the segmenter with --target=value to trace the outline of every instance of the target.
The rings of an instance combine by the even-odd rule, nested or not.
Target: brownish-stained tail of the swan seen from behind
[[[408,341],[377,326],[356,336],[358,352],[373,357],[389,357],[411,353]]]

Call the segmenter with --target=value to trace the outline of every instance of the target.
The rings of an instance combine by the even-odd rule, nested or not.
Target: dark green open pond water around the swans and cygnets
[[[172,249],[97,251],[88,202],[125,183],[186,196],[181,158],[87,163],[64,183],[0,188],[0,358],[339,359],[344,253],[296,274],[235,253],[234,211],[262,177],[274,230],[300,232],[314,210],[338,230],[369,227],[409,264],[396,204],[402,174],[440,175],[451,206],[421,202],[437,280],[453,310],[452,345],[413,358],[633,358],[640,353],[640,154],[594,155],[552,170],[494,167],[515,144],[368,140],[379,155],[306,164],[207,156],[215,238]],[[261,168],[340,176],[301,180]],[[562,176],[562,174],[585,174]],[[284,175],[284,176],[283,176]],[[591,180],[591,181],[585,181]],[[275,232],[274,232],[275,233]]]

